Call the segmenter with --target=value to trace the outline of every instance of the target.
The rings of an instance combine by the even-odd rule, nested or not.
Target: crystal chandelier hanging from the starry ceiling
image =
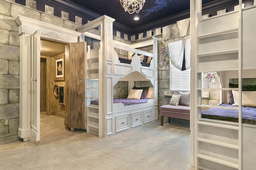
[[[139,11],[142,10],[145,2],[146,0],[120,0],[124,11],[128,11],[129,14],[133,14],[134,12],[138,14]]]

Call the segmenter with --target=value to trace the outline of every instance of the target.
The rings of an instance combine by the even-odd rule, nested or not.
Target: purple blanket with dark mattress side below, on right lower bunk
[[[238,107],[228,103],[219,106]],[[210,108],[202,111],[202,118],[238,122],[238,110]],[[242,106],[242,123],[256,125],[256,107]]]

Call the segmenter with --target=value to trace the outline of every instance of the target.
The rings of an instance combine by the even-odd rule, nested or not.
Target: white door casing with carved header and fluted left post
[[[24,16],[17,16],[14,21],[19,26],[20,35],[20,126],[18,136],[23,141],[27,141],[29,136],[38,141],[40,140],[40,38],[67,44],[83,39],[79,32]],[[34,48],[31,49],[33,46]],[[32,64],[38,66],[34,67]],[[31,69],[33,67],[34,69]],[[35,79],[37,80],[35,81]]]

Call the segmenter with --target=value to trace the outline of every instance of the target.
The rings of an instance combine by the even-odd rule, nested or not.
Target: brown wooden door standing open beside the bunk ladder
[[[70,43],[69,56],[69,125],[85,129],[86,42]]]

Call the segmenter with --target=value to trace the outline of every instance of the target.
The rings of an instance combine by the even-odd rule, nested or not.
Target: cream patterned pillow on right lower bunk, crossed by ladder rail
[[[232,90],[234,96],[233,106],[238,106],[239,92]],[[242,106],[256,107],[256,91],[242,91]]]

